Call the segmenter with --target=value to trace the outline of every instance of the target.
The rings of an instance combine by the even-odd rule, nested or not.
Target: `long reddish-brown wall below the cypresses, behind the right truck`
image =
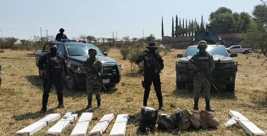
[[[240,34],[239,33],[219,34],[226,48],[232,45],[237,45],[240,42],[240,39],[237,37],[238,35]],[[194,39],[193,36],[184,36],[184,37],[162,36],[162,44],[163,45],[176,44],[173,45],[172,48],[182,49],[182,48],[187,48],[193,39]],[[221,42],[219,42],[218,44],[221,44]]]

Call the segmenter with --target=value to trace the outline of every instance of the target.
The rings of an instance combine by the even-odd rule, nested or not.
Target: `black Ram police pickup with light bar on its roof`
[[[49,41],[47,42],[42,51],[37,51],[35,55],[36,66],[38,67],[39,58],[50,52],[51,43],[57,45],[57,52],[61,53],[66,58],[69,68],[69,80],[66,81],[66,88],[68,90],[74,90],[77,88],[86,88],[86,74],[80,71],[80,66],[83,61],[89,57],[88,50],[95,48],[97,51],[96,58],[98,58],[103,66],[103,73],[101,79],[104,86],[116,85],[121,80],[121,64],[118,64],[115,60],[107,57],[108,53],[102,53],[95,45],[86,43],[85,40],[73,40],[65,41]],[[82,41],[82,42],[80,42]],[[46,47],[48,45],[48,47]],[[47,50],[45,50],[47,48]],[[38,68],[39,69],[39,68]],[[42,77],[42,70],[39,69],[39,76]],[[62,79],[65,79],[65,73],[62,73]]]

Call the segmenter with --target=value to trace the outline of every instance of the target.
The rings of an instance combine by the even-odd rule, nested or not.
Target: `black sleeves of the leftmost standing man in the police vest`
[[[49,59],[51,57],[52,56],[51,56],[50,52],[41,56],[39,61],[38,61],[38,68],[44,70],[45,69],[44,64],[46,63],[47,58]],[[64,67],[65,76],[69,76],[69,69],[67,67],[66,59],[63,56],[59,55],[58,53],[57,53],[56,58],[60,62],[60,64]],[[51,69],[51,68],[49,67],[49,69]]]

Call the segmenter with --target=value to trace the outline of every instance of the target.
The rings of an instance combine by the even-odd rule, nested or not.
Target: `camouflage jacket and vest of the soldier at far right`
[[[203,69],[211,76],[212,71],[215,68],[213,56],[210,53],[205,53],[204,55],[200,55],[199,52],[195,53],[192,57],[198,58],[198,63],[201,64]],[[189,64],[189,67],[193,69],[194,64],[191,63]],[[197,71],[195,71],[197,73]]]

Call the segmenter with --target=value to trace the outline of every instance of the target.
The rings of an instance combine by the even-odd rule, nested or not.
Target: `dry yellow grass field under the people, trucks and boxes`
[[[163,55],[164,69],[161,74],[163,105],[165,111],[160,113],[171,114],[177,108],[187,109],[189,112],[194,105],[192,90],[177,90],[175,85],[175,62],[179,60],[177,53],[182,50],[174,50],[168,55]],[[50,113],[62,113],[63,115],[72,110],[78,113],[93,112],[93,120],[89,124],[89,131],[96,125],[105,113],[114,112],[115,117],[109,127],[103,133],[103,136],[109,135],[117,114],[129,114],[126,135],[247,135],[241,126],[235,124],[231,127],[225,127],[223,124],[229,120],[228,110],[240,112],[256,126],[267,133],[267,88],[266,64],[261,65],[265,57],[258,59],[256,54],[252,53],[246,59],[246,55],[238,53],[238,57],[233,58],[238,61],[238,72],[234,92],[211,91],[210,105],[215,109],[212,114],[219,119],[221,124],[217,129],[191,129],[189,131],[160,132],[152,130],[146,133],[138,131],[138,119],[140,109],[143,105],[144,89],[141,85],[142,76],[131,77],[127,73],[130,69],[128,60],[122,60],[119,50],[111,49],[108,57],[115,59],[122,64],[123,71],[121,82],[107,91],[101,92],[103,109],[96,109],[97,102],[93,95],[92,106],[90,110],[84,110],[87,106],[87,93],[85,89],[77,91],[68,91],[64,86],[64,104],[65,109],[57,109],[57,95],[53,86],[48,100],[48,112],[38,113],[42,107],[42,79],[38,77],[38,69],[35,64],[35,56],[30,55],[30,51],[11,51],[5,50],[0,53],[0,64],[2,65],[2,86],[0,89],[0,135],[14,135],[14,133],[36,121],[47,116]],[[161,53],[163,54],[163,53]],[[26,89],[26,91],[22,91]],[[174,105],[172,108],[170,105]],[[148,105],[152,108],[158,108],[158,100],[153,85],[148,99]],[[199,108],[205,109],[205,100],[201,96]],[[191,113],[191,112],[190,112]],[[62,116],[63,116],[62,115]],[[62,134],[70,135],[76,121],[72,123]],[[52,127],[57,121],[53,122],[44,129],[38,131],[34,136],[41,136]],[[157,127],[157,125],[156,125]]]

